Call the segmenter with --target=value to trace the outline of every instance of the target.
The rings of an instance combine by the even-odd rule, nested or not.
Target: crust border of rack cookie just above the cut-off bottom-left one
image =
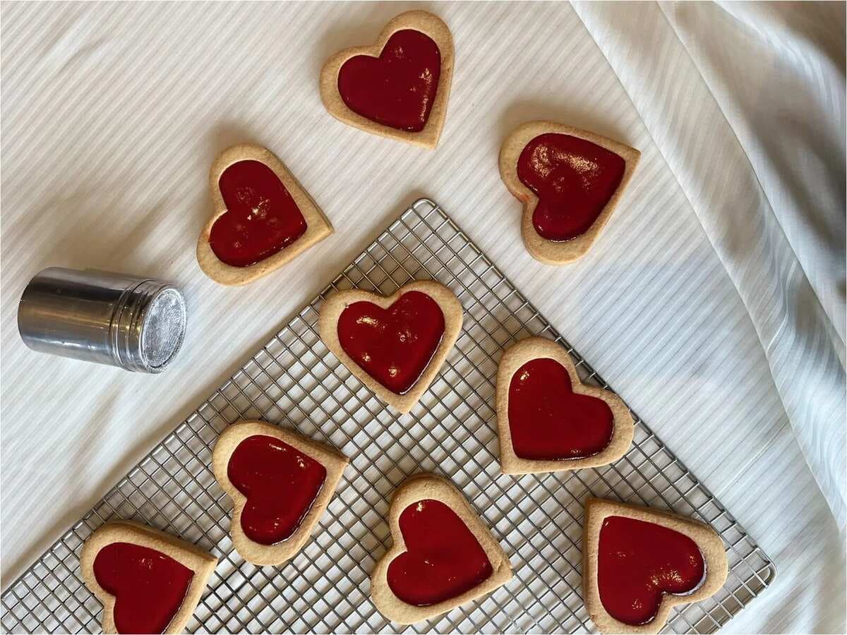
[[[235,487],[227,474],[230,465],[230,457],[244,439],[257,434],[274,437],[291,445],[306,456],[318,461],[326,468],[326,479],[318,495],[313,500],[312,506],[303,517],[300,526],[285,540],[276,544],[260,544],[247,538],[241,528],[241,513],[244,511],[247,499],[244,494]],[[319,444],[311,439],[306,439],[299,434],[290,432],[279,426],[263,421],[239,421],[231,424],[221,433],[218,442],[212,451],[212,470],[218,479],[221,489],[233,500],[235,505],[230,521],[230,536],[235,550],[244,560],[256,565],[281,565],[295,555],[303,545],[306,544],[312,534],[315,525],[324,514],[329,501],[332,500],[335,489],[344,472],[344,468],[350,460],[337,450],[333,450],[324,444]]]

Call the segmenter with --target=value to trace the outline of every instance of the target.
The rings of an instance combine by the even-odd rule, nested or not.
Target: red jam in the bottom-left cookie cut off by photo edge
[[[155,549],[112,543],[97,552],[94,577],[115,598],[118,632],[158,633],[180,610],[194,572]]]

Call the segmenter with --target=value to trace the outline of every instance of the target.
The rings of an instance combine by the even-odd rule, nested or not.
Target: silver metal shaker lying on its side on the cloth
[[[185,336],[185,299],[161,280],[51,267],[30,280],[18,329],[33,351],[159,373]]]

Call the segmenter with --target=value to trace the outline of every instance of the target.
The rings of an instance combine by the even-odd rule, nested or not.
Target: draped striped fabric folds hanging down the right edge
[[[808,39],[781,47],[780,29],[767,20],[784,25],[785,8],[773,5],[749,9],[768,39],[711,4],[575,9],[744,301],[800,449],[844,532],[843,135],[835,141],[790,125],[816,112],[829,130],[839,122],[844,130],[838,54],[828,62],[839,30],[822,36],[821,47]],[[712,42],[716,24],[726,28]],[[843,29],[840,38],[843,56]],[[783,95],[804,86],[812,87],[805,97]],[[784,139],[766,134],[779,127]]]

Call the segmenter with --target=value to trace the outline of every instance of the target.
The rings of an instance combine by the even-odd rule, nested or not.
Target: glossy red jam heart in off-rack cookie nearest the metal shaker
[[[212,225],[209,245],[232,267],[249,267],[300,238],[306,219],[274,170],[239,161],[218,181],[226,213]]]

